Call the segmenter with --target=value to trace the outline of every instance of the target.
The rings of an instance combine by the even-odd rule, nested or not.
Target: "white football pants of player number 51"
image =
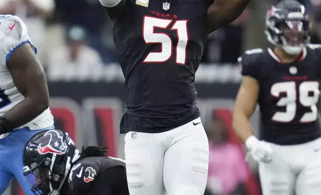
[[[204,194],[208,139],[200,118],[162,133],[126,133],[125,160],[130,195]]]

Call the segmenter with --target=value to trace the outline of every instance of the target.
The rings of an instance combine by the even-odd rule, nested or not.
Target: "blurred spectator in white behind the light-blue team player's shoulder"
[[[29,37],[38,49],[38,59],[44,63],[46,58],[45,20],[55,8],[54,0],[0,0],[0,14],[19,16],[28,28]]]

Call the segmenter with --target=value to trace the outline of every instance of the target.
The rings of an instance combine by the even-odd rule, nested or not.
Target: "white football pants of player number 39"
[[[272,162],[259,163],[263,195],[321,195],[321,138],[279,146]]]

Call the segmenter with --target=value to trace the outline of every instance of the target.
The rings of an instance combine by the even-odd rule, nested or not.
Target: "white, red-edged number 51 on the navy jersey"
[[[161,19],[156,17],[145,16],[143,23],[143,39],[147,44],[161,44],[160,52],[150,52],[143,62],[146,63],[162,63],[169,60],[172,56],[172,40],[166,33],[155,32],[156,28],[167,29],[171,23],[170,30],[175,30],[177,34],[176,45],[176,64],[186,63],[186,47],[188,42],[187,31],[188,20]]]

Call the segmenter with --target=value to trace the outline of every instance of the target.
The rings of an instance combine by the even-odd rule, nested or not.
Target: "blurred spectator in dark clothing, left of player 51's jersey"
[[[105,63],[115,62],[112,25],[99,0],[55,0],[55,20],[65,27],[79,25],[87,31],[88,45],[95,48]],[[105,36],[105,37],[104,37]]]

